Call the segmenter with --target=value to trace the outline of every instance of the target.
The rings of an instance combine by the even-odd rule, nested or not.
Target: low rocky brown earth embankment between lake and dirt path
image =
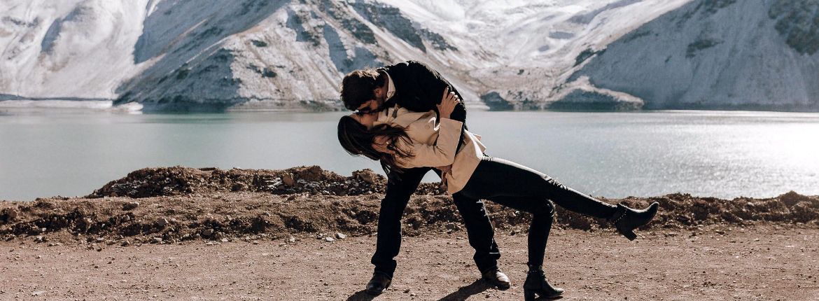
[[[79,198],[0,202],[0,239],[48,244],[178,243],[185,240],[324,240],[371,235],[387,180],[364,169],[343,177],[318,166],[285,170],[143,168]],[[672,194],[615,200],[641,208],[659,202],[657,218],[641,231],[698,235],[708,225],[758,223],[819,227],[819,196],[788,192],[768,199],[721,200]],[[525,232],[528,213],[486,203],[498,231]],[[558,208],[554,227],[587,231],[608,222]],[[423,183],[405,210],[405,235],[462,231],[450,196]]]

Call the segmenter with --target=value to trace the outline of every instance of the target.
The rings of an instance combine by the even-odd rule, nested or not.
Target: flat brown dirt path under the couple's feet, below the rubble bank
[[[819,229],[762,224],[643,231],[554,229],[545,268],[568,300],[817,300]],[[694,236],[692,236],[692,234]],[[0,243],[2,300],[518,300],[526,236],[497,235],[513,281],[478,281],[464,231],[408,237],[391,287],[362,292],[375,238],[172,245]]]

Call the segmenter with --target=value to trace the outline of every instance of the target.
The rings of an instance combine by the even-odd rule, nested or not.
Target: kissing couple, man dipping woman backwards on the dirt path
[[[554,220],[554,204],[604,218],[634,240],[634,229],[649,223],[658,203],[636,210],[608,204],[564,186],[532,168],[485,154],[481,137],[467,130],[466,107],[441,74],[418,61],[355,70],[342,79],[341,99],[351,115],[338,122],[338,141],[351,155],[378,160],[387,174],[387,191],[378,215],[378,238],[366,287],[378,295],[396,270],[401,216],[424,174],[432,170],[464,218],[473,259],[482,278],[500,290],[509,277],[498,267],[500,250],[482,200],[532,213],[528,234],[526,300],[559,298],[563,289],[549,284],[543,261]]]

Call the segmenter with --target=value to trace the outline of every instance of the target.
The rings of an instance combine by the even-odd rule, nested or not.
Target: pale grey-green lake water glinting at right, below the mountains
[[[338,145],[335,113],[123,115],[0,108],[0,200],[87,195],[145,167],[380,166]],[[486,112],[487,155],[591,195],[819,195],[819,114],[745,111]],[[432,173],[425,179],[437,180]]]

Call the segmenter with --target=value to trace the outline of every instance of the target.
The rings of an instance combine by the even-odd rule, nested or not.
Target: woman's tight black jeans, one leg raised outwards
[[[464,189],[453,195],[491,200],[532,213],[529,226],[529,265],[543,265],[546,240],[552,227],[554,203],[595,218],[609,218],[617,206],[595,200],[532,168],[505,159],[484,157]]]

